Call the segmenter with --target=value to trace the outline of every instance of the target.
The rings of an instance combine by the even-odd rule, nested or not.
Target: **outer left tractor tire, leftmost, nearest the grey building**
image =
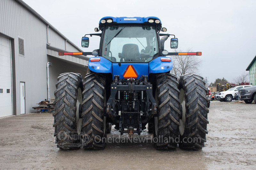
[[[79,103],[82,103],[83,82],[82,76],[76,73],[63,73],[58,77],[54,92],[55,100],[53,102],[55,112],[54,116],[54,137],[55,143],[60,149],[80,148],[81,140],[78,133],[81,129],[78,120]],[[80,124],[81,126],[81,124]]]

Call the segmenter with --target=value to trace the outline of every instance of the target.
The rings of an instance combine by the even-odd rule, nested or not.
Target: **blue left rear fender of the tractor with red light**
[[[99,62],[90,62],[91,58],[100,58]],[[91,57],[88,62],[88,68],[96,73],[111,73],[112,74],[112,63],[104,57],[97,56]]]

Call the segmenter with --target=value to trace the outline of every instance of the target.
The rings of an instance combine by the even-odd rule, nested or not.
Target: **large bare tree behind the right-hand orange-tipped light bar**
[[[181,50],[174,50],[175,53],[180,53]],[[191,52],[191,50],[187,50]],[[202,60],[196,55],[175,55],[172,56],[172,70],[171,73],[176,76],[198,73],[198,67],[202,63]]]

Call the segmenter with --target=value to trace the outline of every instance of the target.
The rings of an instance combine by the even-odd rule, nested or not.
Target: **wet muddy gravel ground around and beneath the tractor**
[[[254,169],[256,104],[213,101],[209,110],[201,151],[158,151],[150,142],[112,141],[102,151],[63,151],[55,144],[51,113],[2,118],[0,169]],[[119,132],[112,128],[108,137],[116,139]],[[146,129],[134,137],[152,135]]]

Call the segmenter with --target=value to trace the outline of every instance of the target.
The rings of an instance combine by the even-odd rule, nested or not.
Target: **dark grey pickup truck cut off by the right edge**
[[[239,90],[239,100],[244,100],[245,103],[256,103],[256,85],[251,87],[245,87]]]

